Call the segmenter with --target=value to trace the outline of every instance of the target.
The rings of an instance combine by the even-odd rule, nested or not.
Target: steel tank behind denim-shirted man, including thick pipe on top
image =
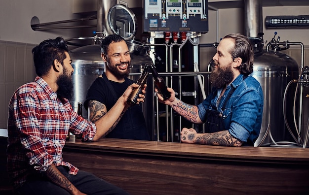
[[[270,135],[274,141],[291,139],[283,117],[283,96],[287,84],[292,79],[298,79],[299,74],[299,66],[294,59],[278,51],[263,49],[262,17],[262,0],[244,0],[245,35],[250,39],[254,48],[252,75],[261,83],[264,93],[262,127],[255,146],[261,142],[269,125],[270,133],[264,140],[264,144],[271,142]],[[289,96],[287,100],[290,105],[293,102],[291,97],[293,96]],[[287,118],[293,118],[291,109],[287,111]]]

